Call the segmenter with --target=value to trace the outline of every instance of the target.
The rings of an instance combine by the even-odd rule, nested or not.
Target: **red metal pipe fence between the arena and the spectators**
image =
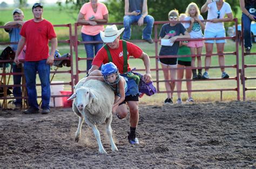
[[[205,20],[206,21],[206,20]],[[234,18],[233,19],[233,22],[235,24],[235,30],[238,30],[238,19],[237,18]],[[158,58],[160,57],[163,57],[163,56],[158,56],[158,48],[159,48],[159,40],[158,40],[158,28],[159,28],[159,25],[161,24],[164,24],[164,23],[170,23],[170,22],[162,22],[162,21],[159,21],[159,22],[154,22],[154,44],[155,44],[155,56],[150,56],[151,59],[154,59],[155,62],[156,62],[156,67],[151,69],[151,72],[153,74],[153,72],[156,73],[156,79],[152,79],[154,83],[156,83],[156,87],[157,87],[157,92],[158,93],[166,93],[166,92],[171,92],[171,91],[163,91],[163,90],[160,90],[160,83],[164,83],[166,82],[166,80],[162,80],[160,79],[160,76],[159,76],[159,71],[163,70],[163,69],[160,69],[159,68],[159,63],[158,63]],[[107,25],[111,25],[111,24],[118,24],[118,25],[122,25],[122,23],[109,23]],[[57,71],[57,69],[55,69],[55,71],[51,71],[51,73],[53,75],[55,75],[55,73],[70,73],[70,82],[68,83],[62,83],[62,84],[65,84],[65,85],[70,85],[71,86],[71,90],[73,91],[73,86],[78,82],[79,80],[79,74],[80,73],[85,73],[86,70],[81,70],[80,66],[79,66],[79,61],[80,60],[86,60],[87,58],[82,58],[82,57],[78,57],[78,45],[79,44],[85,44],[85,43],[100,43],[100,42],[80,42],[78,40],[78,26],[79,24],[78,23],[75,23],[75,35],[72,36],[72,28],[71,28],[71,24],[67,24],[67,25],[54,25],[55,27],[68,27],[69,28],[69,39],[68,40],[59,40],[58,43],[66,43],[66,44],[69,44],[70,46],[70,61],[71,61],[71,68],[70,70],[68,71]],[[1,28],[6,28],[6,26],[0,26],[0,29]],[[219,80],[234,80],[235,82],[235,88],[222,88],[222,89],[204,89],[204,90],[191,90],[190,92],[216,92],[216,91],[219,91],[221,93],[221,99],[222,99],[222,92],[223,91],[235,91],[237,92],[237,100],[240,100],[240,84],[239,84],[239,73],[241,72],[241,82],[243,84],[243,99],[245,100],[245,91],[247,90],[255,90],[254,88],[253,89],[249,89],[249,88],[246,88],[245,87],[245,80],[248,80],[248,79],[256,79],[255,77],[253,78],[248,78],[248,77],[245,77],[245,68],[246,67],[256,67],[256,65],[245,65],[244,64],[244,52],[241,52],[242,53],[242,70],[239,70],[239,37],[238,36],[238,32],[236,31],[235,33],[235,36],[234,37],[226,37],[226,38],[201,38],[200,40],[207,40],[207,39],[234,39],[235,40],[235,48],[234,48],[234,51],[233,52],[226,52],[226,53],[223,53],[224,55],[231,55],[231,56],[235,56],[235,63],[234,65],[225,65],[225,66],[222,66],[222,67],[225,67],[225,68],[233,68],[235,69],[235,77],[230,77],[228,79],[221,79],[221,78],[211,78],[211,79],[204,79],[204,81],[216,81],[218,82]],[[179,41],[181,40],[199,40],[199,39],[177,39]],[[144,42],[144,40],[131,40],[131,42]],[[10,44],[10,43],[2,43],[0,42],[0,45],[6,45],[6,44]],[[73,50],[75,51],[75,65],[73,64]],[[242,51],[244,51],[243,49],[243,46],[242,46]],[[222,53],[213,53],[212,56],[218,56],[219,54],[222,54]],[[252,53],[253,54],[253,53]],[[255,54],[255,53],[254,53]],[[205,56],[205,54],[202,54],[201,56]],[[164,56],[164,57],[188,57],[188,56]],[[194,56],[196,57],[196,56]],[[90,58],[89,58],[90,59]],[[56,60],[59,60],[59,59],[56,59]],[[4,63],[4,62],[9,62],[11,60],[0,60],[0,63]],[[83,64],[83,67],[85,64]],[[193,67],[193,69],[204,69],[204,68],[210,68],[210,69],[219,69],[219,68],[222,68],[221,66],[210,66],[210,67]],[[173,69],[191,69],[191,68],[173,68]],[[73,72],[73,70],[75,70],[75,73]],[[144,69],[137,69],[137,71],[145,71]],[[10,76],[10,75],[15,75],[16,73],[5,73],[4,71],[2,73],[0,73],[0,75],[2,77],[4,76]],[[23,74],[23,73],[22,73]],[[19,74],[20,75],[20,74]],[[180,80],[173,80],[175,82],[178,82],[178,81],[193,81],[192,79],[189,79],[189,80],[186,80],[186,79],[180,79]],[[55,84],[52,84],[52,85],[59,85],[60,83],[55,83]],[[37,84],[37,85],[40,85],[40,84]],[[9,84],[6,84],[6,82],[4,82],[4,85],[1,85],[1,87],[3,87],[5,90],[8,88],[8,87],[13,87],[15,85],[9,85]],[[19,86],[25,86],[25,84],[22,84],[22,85],[19,85]],[[182,91],[174,91],[174,92],[188,92],[187,90],[182,90]],[[39,96],[40,98],[41,96]],[[51,96],[53,98],[56,98],[56,97],[68,97],[68,96]],[[7,99],[14,99],[15,97],[9,97],[9,96],[4,96],[4,97],[1,97],[1,99],[3,100],[7,100]],[[26,99],[26,96],[23,96],[22,97],[23,99]],[[5,102],[6,103],[6,102]]]

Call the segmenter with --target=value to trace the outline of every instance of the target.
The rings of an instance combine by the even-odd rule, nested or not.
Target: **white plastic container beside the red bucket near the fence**
[[[52,81],[51,82],[51,84],[55,84],[55,83],[64,83],[64,82],[63,81]],[[51,85],[51,96],[52,95],[61,96],[62,94],[60,93],[60,91],[63,91],[63,90],[64,90],[64,85]],[[62,107],[62,106],[63,106],[62,98],[56,97],[55,98],[55,107]],[[50,99],[50,107],[54,107],[52,97]]]

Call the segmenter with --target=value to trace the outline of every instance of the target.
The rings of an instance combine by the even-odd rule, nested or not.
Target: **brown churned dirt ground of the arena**
[[[127,141],[129,118],[113,117],[118,152],[105,125],[98,127],[108,154],[98,154],[92,130],[70,109],[47,115],[0,111],[0,166],[6,168],[256,167],[256,103],[140,105],[139,145]]]

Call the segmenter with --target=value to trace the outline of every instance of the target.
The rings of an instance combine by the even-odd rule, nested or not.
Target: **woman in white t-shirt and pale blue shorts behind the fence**
[[[205,4],[201,8],[201,12],[204,13],[208,11],[207,20],[205,25],[205,38],[221,38],[226,37],[226,32],[224,28],[224,22],[232,21],[233,13],[230,7],[230,4],[224,2],[224,0],[207,0]],[[225,17],[227,15],[227,17]],[[217,52],[219,53],[219,65],[225,66],[225,56],[224,45],[226,43],[226,39],[215,40],[217,46]],[[205,40],[205,48],[206,48],[206,57],[205,57],[205,67],[211,65],[211,56],[213,50],[214,40]],[[225,72],[225,68],[221,69],[221,78],[229,78],[228,74]],[[203,79],[208,79],[208,68],[205,69]]]

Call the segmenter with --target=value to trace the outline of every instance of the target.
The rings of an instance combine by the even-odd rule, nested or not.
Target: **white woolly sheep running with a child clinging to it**
[[[118,151],[112,138],[112,105],[114,103],[114,92],[105,83],[99,80],[90,79],[85,81],[81,79],[75,86],[75,93],[68,99],[73,100],[73,112],[79,117],[79,124],[75,134],[75,142],[79,141],[81,136],[81,129],[83,121],[89,125],[98,141],[99,153],[105,153],[102,141],[100,140],[100,133],[96,125],[106,123],[106,133],[109,136],[112,151]]]

